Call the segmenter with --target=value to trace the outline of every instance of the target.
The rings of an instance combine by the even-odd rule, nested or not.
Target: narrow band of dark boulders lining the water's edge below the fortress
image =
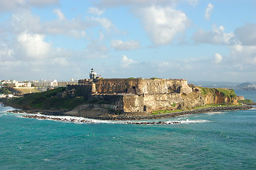
[[[218,111],[238,111],[238,110],[248,110],[250,108],[254,108],[250,105],[243,105],[243,106],[220,106],[220,107],[208,107],[208,108],[199,108],[193,109],[189,111],[179,111],[174,113],[162,113],[159,115],[129,115],[129,114],[121,114],[121,115],[70,115],[70,116],[77,116],[89,119],[96,119],[96,120],[147,120],[147,119],[160,119],[160,118],[172,118],[177,117],[179,115],[188,115],[188,114],[195,114],[195,113],[208,113],[208,112],[218,112]],[[10,111],[13,113],[40,113],[43,115],[69,115],[67,111],[48,111],[48,110],[40,110],[40,109],[32,109],[32,110],[14,110]],[[32,117],[28,117],[32,118]]]

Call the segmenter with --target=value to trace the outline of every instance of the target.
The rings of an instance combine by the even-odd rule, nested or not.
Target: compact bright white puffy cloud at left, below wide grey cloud
[[[17,42],[21,50],[27,57],[39,59],[46,57],[50,50],[50,45],[44,41],[45,35],[29,34],[23,32],[17,37]]]

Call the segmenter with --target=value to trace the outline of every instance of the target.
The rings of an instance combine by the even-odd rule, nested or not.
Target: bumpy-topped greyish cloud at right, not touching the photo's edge
[[[213,30],[199,29],[193,35],[193,40],[196,43],[209,43],[215,45],[230,45],[233,43],[233,33],[224,33],[225,28],[223,26],[213,26]]]

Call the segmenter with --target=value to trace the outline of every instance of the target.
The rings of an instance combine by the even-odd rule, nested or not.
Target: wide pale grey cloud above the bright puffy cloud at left
[[[27,30],[28,33],[57,34],[82,38],[86,35],[85,30],[101,24],[98,21],[92,21],[91,18],[85,20],[81,18],[67,19],[59,9],[55,9],[53,13],[57,14],[57,19],[41,23],[40,17],[33,15],[31,11],[18,11],[11,16],[11,21],[9,21],[11,30],[9,31],[18,34]]]

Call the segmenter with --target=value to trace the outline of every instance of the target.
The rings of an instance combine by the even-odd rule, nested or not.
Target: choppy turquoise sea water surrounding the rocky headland
[[[256,91],[236,93],[256,102]],[[0,169],[256,169],[256,109],[162,119],[180,122],[172,125],[37,120],[11,109],[0,106]]]

